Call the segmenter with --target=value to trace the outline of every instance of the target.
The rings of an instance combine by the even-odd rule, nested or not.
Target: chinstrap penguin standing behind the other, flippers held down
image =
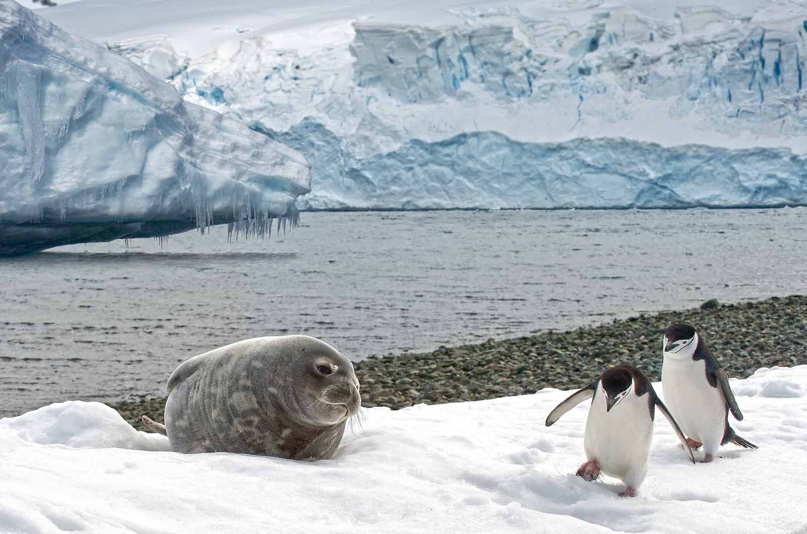
[[[692,448],[704,448],[712,461],[717,448],[734,443],[757,448],[729,426],[729,411],[742,421],[742,412],[729,386],[729,377],[709,353],[694,327],[677,323],[667,327],[663,340],[661,382],[664,400],[681,425]]]

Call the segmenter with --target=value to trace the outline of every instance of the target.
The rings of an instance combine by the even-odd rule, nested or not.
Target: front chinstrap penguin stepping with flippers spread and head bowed
[[[621,497],[634,497],[647,474],[647,457],[653,439],[655,409],[659,408],[675,430],[695,463],[684,433],[667,407],[656,395],[653,385],[633,365],[606,369],[600,378],[558,404],[546,418],[546,426],[584,400],[592,398],[588,409],[583,449],[587,462],[577,469],[577,476],[592,481],[600,472],[625,482]]]

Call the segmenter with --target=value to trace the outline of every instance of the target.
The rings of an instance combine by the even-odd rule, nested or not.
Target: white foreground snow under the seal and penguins
[[[54,404],[0,419],[0,532],[805,532],[807,365],[731,383],[759,450],[692,465],[657,418],[635,499],[575,477],[587,403],[544,426],[569,391],[366,409],[316,462],[166,452],[110,407]]]

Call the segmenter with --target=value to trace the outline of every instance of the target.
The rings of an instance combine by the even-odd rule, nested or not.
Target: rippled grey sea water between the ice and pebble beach
[[[358,360],[807,292],[807,209],[304,213],[0,259],[0,416],[160,394],[180,361],[305,333]]]

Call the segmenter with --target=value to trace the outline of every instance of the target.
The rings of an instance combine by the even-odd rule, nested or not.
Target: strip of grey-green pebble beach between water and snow
[[[691,323],[730,376],[759,367],[807,364],[807,296],[768,298],[614,320],[568,332],[544,332],[431,353],[370,357],[354,364],[362,406],[393,409],[531,394],[545,387],[585,386],[617,361],[661,379],[661,339],[670,323]],[[164,398],[114,406],[144,430],[141,415],[162,421]]]

